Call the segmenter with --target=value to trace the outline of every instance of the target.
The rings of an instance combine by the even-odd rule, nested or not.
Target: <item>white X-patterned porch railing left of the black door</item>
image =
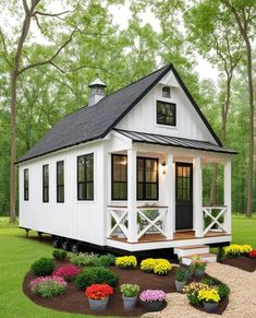
[[[107,207],[108,211],[108,237],[119,236],[129,238],[127,207]],[[168,207],[137,207],[136,208],[136,239],[145,234],[159,233],[168,237],[166,221]]]

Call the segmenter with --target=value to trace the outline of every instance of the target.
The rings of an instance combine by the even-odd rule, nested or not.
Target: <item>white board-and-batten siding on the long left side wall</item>
[[[94,153],[94,201],[77,200],[77,156]],[[64,202],[57,202],[57,162],[64,161]],[[42,202],[42,165],[49,165],[49,202]],[[29,200],[24,201],[24,169]],[[105,145],[93,142],[20,164],[20,226],[106,245]]]

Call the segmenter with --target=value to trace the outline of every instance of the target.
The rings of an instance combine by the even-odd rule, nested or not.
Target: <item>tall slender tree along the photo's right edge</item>
[[[248,145],[248,170],[247,170],[247,208],[248,217],[253,213],[254,195],[254,80],[253,80],[253,57],[252,43],[256,34],[256,2],[254,0],[221,0],[224,7],[231,12],[236,22],[241,36],[244,39],[247,58],[248,79],[248,104],[249,104],[249,145]]]

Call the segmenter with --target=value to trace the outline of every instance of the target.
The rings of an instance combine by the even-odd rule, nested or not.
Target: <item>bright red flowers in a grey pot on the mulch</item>
[[[113,294],[113,288],[108,284],[93,284],[85,291],[92,310],[105,310],[108,306],[109,295]]]

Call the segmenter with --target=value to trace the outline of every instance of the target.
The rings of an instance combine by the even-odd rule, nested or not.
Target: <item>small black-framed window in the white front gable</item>
[[[157,123],[175,126],[176,125],[176,105],[157,101]]]

